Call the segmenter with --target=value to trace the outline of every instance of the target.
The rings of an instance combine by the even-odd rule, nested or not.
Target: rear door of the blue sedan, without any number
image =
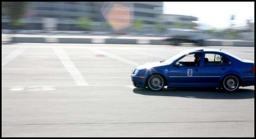
[[[231,69],[231,61],[220,53],[204,53],[201,68],[202,86],[218,87],[221,76]]]

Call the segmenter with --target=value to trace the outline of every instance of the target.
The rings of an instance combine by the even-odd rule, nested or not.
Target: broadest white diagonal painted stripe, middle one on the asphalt
[[[86,82],[86,80],[84,80],[83,75],[73,64],[72,60],[69,58],[67,53],[62,48],[58,48],[58,47],[54,47],[53,50],[61,60],[61,63],[65,66],[67,71],[73,77],[77,86],[88,86],[88,83]]]

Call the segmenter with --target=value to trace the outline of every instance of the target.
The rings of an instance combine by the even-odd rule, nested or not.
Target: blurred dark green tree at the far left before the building
[[[10,24],[15,30],[16,27],[24,25],[22,17],[26,11],[26,6],[29,2],[2,2],[2,12],[10,18]]]

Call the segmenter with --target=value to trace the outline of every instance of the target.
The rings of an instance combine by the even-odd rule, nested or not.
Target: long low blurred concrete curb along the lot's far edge
[[[103,43],[103,44],[150,44],[170,45],[166,40],[121,39],[121,38],[54,38],[54,37],[12,37],[12,43]],[[2,41],[3,42],[3,41]],[[254,41],[206,40],[205,46],[254,47]]]

